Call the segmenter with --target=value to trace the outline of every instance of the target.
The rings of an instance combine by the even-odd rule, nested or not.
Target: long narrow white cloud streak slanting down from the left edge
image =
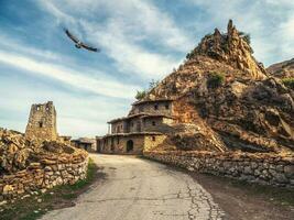
[[[74,86],[75,88],[108,97],[131,98],[133,97],[135,90],[139,89],[137,86],[88,77],[65,66],[35,61],[33,58],[11,54],[1,50],[0,62],[28,70],[34,75],[50,77],[68,86]]]

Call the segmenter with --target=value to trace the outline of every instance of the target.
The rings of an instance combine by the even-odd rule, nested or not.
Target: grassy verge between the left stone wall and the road
[[[87,177],[74,185],[56,186],[45,194],[31,195],[28,198],[15,200],[0,212],[0,220],[35,220],[50,210],[73,206],[73,200],[87,190],[87,187],[97,177],[97,166],[89,158]],[[37,199],[42,199],[37,202]],[[1,209],[2,207],[0,207]]]

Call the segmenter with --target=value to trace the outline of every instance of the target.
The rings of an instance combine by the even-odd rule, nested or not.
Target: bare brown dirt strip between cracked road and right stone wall
[[[227,220],[292,220],[294,191],[235,182],[202,174],[190,175],[213,195]]]

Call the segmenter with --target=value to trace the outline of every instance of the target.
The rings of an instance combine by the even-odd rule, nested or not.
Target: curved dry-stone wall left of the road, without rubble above
[[[44,154],[39,163],[13,174],[0,176],[0,201],[32,190],[57,185],[75,184],[87,174],[88,154],[77,150],[75,154]]]

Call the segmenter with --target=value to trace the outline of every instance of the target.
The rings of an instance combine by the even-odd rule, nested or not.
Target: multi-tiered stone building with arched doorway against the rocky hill
[[[96,138],[97,151],[141,154],[162,144],[173,123],[172,99],[137,101],[127,117],[108,122],[108,134]]]

